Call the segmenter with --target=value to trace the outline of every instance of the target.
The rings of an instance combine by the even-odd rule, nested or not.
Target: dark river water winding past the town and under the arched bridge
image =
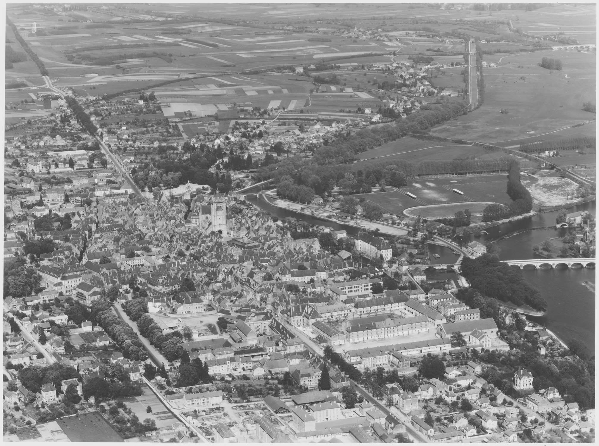
[[[314,219],[298,214],[293,211],[283,210],[268,204],[264,199],[256,196],[247,196],[247,200],[258,207],[270,212],[271,214],[284,219],[285,217],[295,217],[298,220],[317,226],[331,226],[335,230],[345,229],[348,234],[355,235],[358,228],[344,226],[343,224],[325,222],[324,220]],[[595,215],[595,202],[586,203],[576,208],[571,208],[568,212],[586,210]],[[485,241],[497,241],[499,256],[501,260],[519,260],[533,259],[533,246],[543,242],[548,238],[562,238],[567,229],[556,229],[546,226],[555,224],[557,211],[546,214],[537,214],[528,219],[518,220],[511,223],[503,223],[499,226],[486,229],[488,234],[482,234],[477,240],[482,243]],[[508,234],[512,234],[507,236]],[[503,238],[505,236],[505,238]],[[556,240],[556,242],[559,242]],[[434,262],[452,263],[457,256],[449,248],[438,245],[429,245],[429,252],[438,254],[440,257]],[[526,267],[522,274],[533,286],[537,287],[547,301],[547,311],[542,317],[531,318],[548,329],[555,332],[563,341],[571,338],[585,341],[591,349],[595,349],[595,293],[585,287],[583,281],[595,284],[595,269],[588,268],[555,268],[555,269],[534,269]],[[444,274],[443,274],[444,275]],[[447,273],[447,277],[452,277]],[[440,277],[439,277],[440,278]]]

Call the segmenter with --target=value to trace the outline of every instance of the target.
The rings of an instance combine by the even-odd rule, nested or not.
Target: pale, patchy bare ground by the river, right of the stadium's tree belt
[[[533,202],[540,206],[559,206],[570,204],[580,199],[580,187],[567,178],[522,177],[522,184],[526,187]]]

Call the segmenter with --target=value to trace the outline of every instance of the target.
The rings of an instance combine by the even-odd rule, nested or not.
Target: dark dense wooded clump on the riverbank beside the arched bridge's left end
[[[535,310],[547,308],[547,301],[522,277],[522,271],[500,262],[494,254],[483,254],[476,259],[465,258],[461,268],[471,287],[489,298],[516,305],[527,304]]]

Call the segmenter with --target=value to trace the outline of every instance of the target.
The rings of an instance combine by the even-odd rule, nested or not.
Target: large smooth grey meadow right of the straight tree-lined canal
[[[493,61],[505,56],[485,56]],[[562,60],[563,71],[537,66],[542,57]],[[594,98],[595,53],[537,51],[514,54],[498,68],[485,68],[485,101],[474,113],[437,126],[448,138],[509,141],[593,119],[582,104]],[[518,68],[519,66],[523,68]],[[508,113],[500,113],[505,109]]]

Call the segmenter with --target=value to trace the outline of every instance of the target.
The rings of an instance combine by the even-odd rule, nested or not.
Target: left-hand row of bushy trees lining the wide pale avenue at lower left
[[[137,333],[114,314],[108,302],[93,302],[92,318],[123,349],[124,357],[140,361],[147,359],[146,350],[144,350]]]

